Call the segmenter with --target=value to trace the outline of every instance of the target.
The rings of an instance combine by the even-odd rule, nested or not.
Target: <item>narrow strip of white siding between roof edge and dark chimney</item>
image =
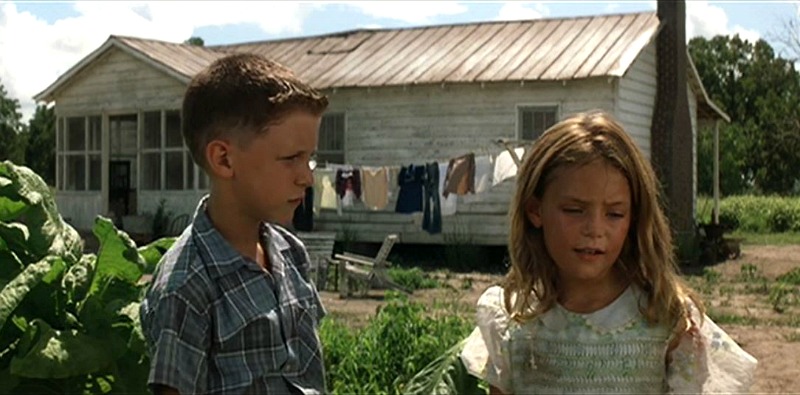
[[[633,137],[645,157],[650,158],[650,125],[656,100],[655,42],[648,44],[619,80],[615,115]]]

